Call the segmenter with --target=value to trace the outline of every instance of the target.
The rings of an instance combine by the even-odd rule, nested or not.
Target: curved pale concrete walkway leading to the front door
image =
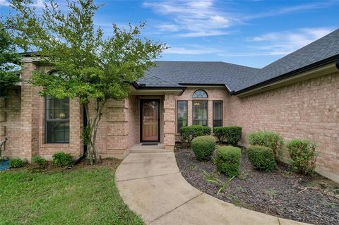
[[[302,224],[202,193],[182,177],[173,152],[129,154],[117,169],[116,181],[124,202],[146,224]]]

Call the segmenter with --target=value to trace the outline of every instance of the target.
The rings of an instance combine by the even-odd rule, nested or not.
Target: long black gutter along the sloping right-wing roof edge
[[[309,66],[304,66],[302,68],[299,68],[295,71],[290,71],[288,73],[284,73],[283,75],[279,75],[278,77],[275,77],[275,78],[271,78],[269,80],[265,80],[261,83],[258,83],[256,85],[252,85],[250,87],[246,87],[242,90],[238,90],[237,92],[233,92],[233,94],[231,95],[239,95],[239,94],[242,94],[244,92],[249,92],[250,90],[254,90],[258,87],[261,87],[263,85],[268,85],[270,83],[273,83],[273,82],[276,82],[276,81],[280,81],[280,80],[283,80],[285,78],[290,78],[292,77],[293,75],[297,75],[298,73],[303,73],[303,72],[307,72],[307,71],[310,71],[311,69],[314,69],[314,68],[317,68],[317,67],[320,67],[320,66],[325,66],[326,64],[328,63],[335,63],[335,67],[337,69],[339,69],[339,54],[335,55],[335,56],[331,56],[329,57],[328,59],[323,59],[321,61],[318,61],[316,63],[313,63]]]

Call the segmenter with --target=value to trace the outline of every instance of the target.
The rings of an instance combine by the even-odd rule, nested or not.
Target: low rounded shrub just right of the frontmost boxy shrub
[[[247,157],[254,168],[258,170],[270,172],[277,167],[273,150],[270,147],[255,145],[247,147]]]

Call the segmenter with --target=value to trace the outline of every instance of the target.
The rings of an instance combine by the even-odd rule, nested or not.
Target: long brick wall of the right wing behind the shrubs
[[[249,97],[230,97],[228,125],[272,130],[319,145],[319,169],[339,175],[339,72]]]

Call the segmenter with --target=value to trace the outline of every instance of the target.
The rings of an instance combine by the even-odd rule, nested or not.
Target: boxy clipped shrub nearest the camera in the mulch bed
[[[239,176],[240,158],[242,151],[239,147],[222,146],[217,148],[215,154],[215,165],[218,171],[227,176]]]

